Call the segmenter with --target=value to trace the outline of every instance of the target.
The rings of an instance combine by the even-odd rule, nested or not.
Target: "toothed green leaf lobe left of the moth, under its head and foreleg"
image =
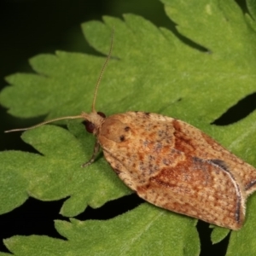
[[[20,196],[13,201],[13,208],[19,206],[26,200],[26,192],[43,201],[69,196],[61,209],[66,216],[78,215],[86,205],[100,207],[106,201],[131,193],[102,158],[97,161],[98,165],[81,168],[90,158],[93,138],[84,134],[83,125],[77,129],[79,139],[61,127],[44,125],[22,135],[22,139],[42,155],[15,151],[0,154],[3,169],[0,195],[9,199],[8,203],[1,205],[1,212],[10,210],[10,200],[16,194]],[[100,170],[101,167],[104,170]],[[15,177],[11,180],[14,188],[7,189],[10,177]],[[15,189],[15,185],[18,188]]]

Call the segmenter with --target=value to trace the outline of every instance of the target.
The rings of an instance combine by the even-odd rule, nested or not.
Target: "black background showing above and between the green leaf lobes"
[[[244,1],[241,8],[247,11]],[[31,72],[27,60],[39,53],[54,53],[56,49],[94,54],[84,41],[80,24],[87,20],[101,20],[102,15],[121,18],[122,14],[133,13],[151,20],[156,26],[165,26],[175,31],[175,26],[157,0],[6,0],[0,2],[0,89],[6,82],[4,77],[11,73]],[[197,45],[180,37],[193,47]],[[230,110],[213,122],[214,125],[228,125],[256,108],[256,94],[252,94],[230,106]],[[20,149],[32,151],[22,143],[20,133],[4,134],[3,131],[26,127],[39,119],[22,120],[11,117],[7,110],[0,108],[0,150]],[[58,213],[62,201],[43,202],[29,199],[21,207],[0,216],[0,251],[8,252],[3,238],[15,235],[48,235],[61,237],[54,228],[54,219],[65,219]],[[100,209],[90,207],[77,218],[108,219],[143,202],[137,195],[125,196],[108,202]],[[199,222],[201,255],[224,255],[229,236],[212,246],[208,224]]]

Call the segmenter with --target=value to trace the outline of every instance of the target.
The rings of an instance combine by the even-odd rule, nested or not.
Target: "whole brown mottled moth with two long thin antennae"
[[[205,133],[181,120],[157,113],[127,112],[109,116],[96,112],[60,119],[84,119],[96,136],[90,165],[99,149],[119,178],[144,200],[231,230],[241,228],[247,196],[256,189],[256,169],[231,154]],[[9,131],[6,131],[9,132]]]

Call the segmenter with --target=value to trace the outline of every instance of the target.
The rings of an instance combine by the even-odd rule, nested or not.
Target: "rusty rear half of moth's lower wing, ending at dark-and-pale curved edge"
[[[241,189],[219,160],[188,156],[138,185],[137,194],[156,206],[232,230],[241,228],[244,220]]]

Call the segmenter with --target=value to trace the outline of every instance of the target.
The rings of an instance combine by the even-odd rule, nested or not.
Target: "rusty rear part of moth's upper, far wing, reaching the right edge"
[[[172,119],[174,148],[203,160],[222,160],[224,166],[241,181],[246,195],[256,190],[256,169],[214,141],[207,134],[181,120]]]

